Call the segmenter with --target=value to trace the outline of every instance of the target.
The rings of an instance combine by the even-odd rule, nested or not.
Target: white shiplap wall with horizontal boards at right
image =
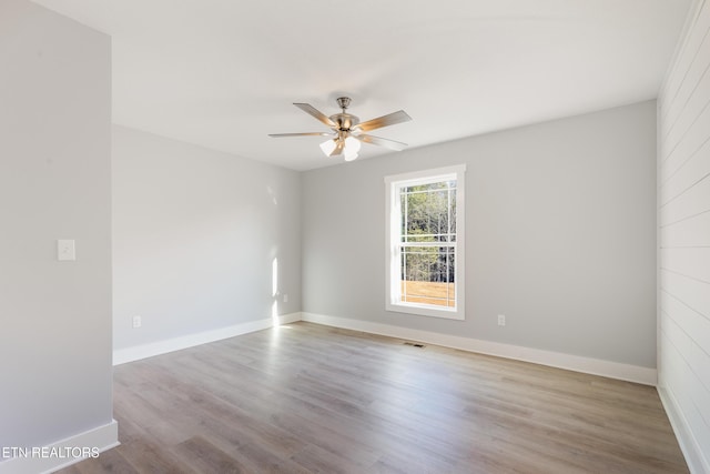
[[[710,473],[710,0],[658,100],[659,393],[693,473]]]

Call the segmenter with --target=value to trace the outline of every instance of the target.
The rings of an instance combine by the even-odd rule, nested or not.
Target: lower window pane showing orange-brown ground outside
[[[404,246],[400,254],[403,302],[456,306],[453,248]]]

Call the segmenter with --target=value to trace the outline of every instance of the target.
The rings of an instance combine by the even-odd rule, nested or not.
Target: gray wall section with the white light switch
[[[0,446],[112,421],[110,53],[104,34],[0,2]],[[77,261],[57,261],[58,239]]]

